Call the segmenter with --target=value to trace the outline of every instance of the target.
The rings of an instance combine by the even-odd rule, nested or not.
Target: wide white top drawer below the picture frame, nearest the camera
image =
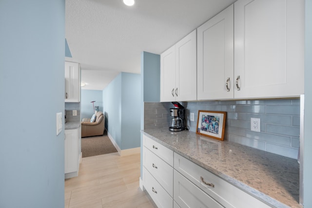
[[[175,153],[175,169],[226,208],[269,208],[268,205]],[[214,184],[214,187],[205,185]]]

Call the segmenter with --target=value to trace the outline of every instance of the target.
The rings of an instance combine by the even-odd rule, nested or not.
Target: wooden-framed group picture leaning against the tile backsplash
[[[223,141],[226,112],[198,111],[196,133]]]

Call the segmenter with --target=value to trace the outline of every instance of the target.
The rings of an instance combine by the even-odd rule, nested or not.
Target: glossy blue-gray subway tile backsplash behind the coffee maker
[[[224,100],[180,102],[186,108],[189,131],[195,132],[198,110],[227,112],[225,140],[297,158],[300,99]],[[144,129],[170,126],[171,102],[144,103]],[[195,121],[190,121],[194,113]],[[250,130],[250,118],[261,119],[261,132]]]

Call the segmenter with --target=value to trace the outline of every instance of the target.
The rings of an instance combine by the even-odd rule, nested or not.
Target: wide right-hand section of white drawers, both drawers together
[[[181,208],[186,207],[185,202],[189,201],[190,203],[198,201],[196,202],[198,204],[188,205],[192,208],[270,208],[267,204],[176,152],[174,153],[174,164],[174,200]],[[192,200],[191,197],[193,197]],[[179,200],[179,198],[183,200]]]

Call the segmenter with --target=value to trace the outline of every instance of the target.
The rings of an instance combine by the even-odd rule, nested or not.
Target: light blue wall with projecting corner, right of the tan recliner
[[[105,127],[120,150],[140,147],[140,75],[120,73],[103,90]]]

